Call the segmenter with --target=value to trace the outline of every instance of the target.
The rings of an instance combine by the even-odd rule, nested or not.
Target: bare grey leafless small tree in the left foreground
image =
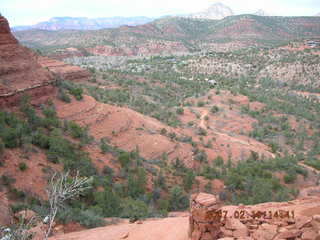
[[[64,202],[78,197],[83,191],[91,188],[91,182],[92,178],[80,178],[79,172],[72,178],[69,178],[69,172],[55,173],[52,176],[47,189],[50,208],[49,215],[45,218],[45,222],[48,223],[48,228],[45,232],[46,240],[51,234],[54,219]]]

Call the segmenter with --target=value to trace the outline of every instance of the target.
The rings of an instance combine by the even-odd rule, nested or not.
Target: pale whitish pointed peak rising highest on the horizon
[[[192,13],[187,17],[206,18],[206,19],[223,19],[227,16],[234,15],[232,9],[222,3],[215,3],[207,10],[199,13]]]

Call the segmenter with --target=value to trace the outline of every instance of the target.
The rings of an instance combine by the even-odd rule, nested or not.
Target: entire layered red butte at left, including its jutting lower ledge
[[[0,106],[17,105],[25,94],[32,104],[46,101],[56,92],[53,73],[67,80],[88,79],[90,75],[84,69],[41,57],[21,46],[7,19],[0,17]]]

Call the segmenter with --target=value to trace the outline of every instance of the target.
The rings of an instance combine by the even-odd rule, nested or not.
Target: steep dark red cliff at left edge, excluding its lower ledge
[[[15,105],[25,94],[37,99],[47,96],[54,90],[54,81],[52,74],[38,64],[38,55],[21,46],[11,34],[7,19],[0,17],[0,106]]]

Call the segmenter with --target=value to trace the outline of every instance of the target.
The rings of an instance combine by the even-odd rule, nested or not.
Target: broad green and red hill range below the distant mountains
[[[222,20],[164,18],[145,25],[96,31],[28,30],[15,32],[25,45],[44,52],[83,55],[152,55],[188,53],[235,44],[229,50],[248,46],[271,46],[293,39],[319,37],[317,17],[229,16]]]

